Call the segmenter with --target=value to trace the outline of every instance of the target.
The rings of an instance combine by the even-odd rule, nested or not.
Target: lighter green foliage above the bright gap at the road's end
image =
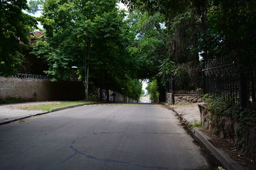
[[[131,56],[136,58],[138,76],[141,79],[152,78],[159,72],[159,66],[166,59],[166,28],[163,15],[130,11],[127,24],[132,32],[132,41],[128,46]]]

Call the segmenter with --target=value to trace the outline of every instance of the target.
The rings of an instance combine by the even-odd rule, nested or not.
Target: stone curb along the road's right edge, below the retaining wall
[[[164,106],[167,106],[166,103],[161,103]],[[228,157],[228,155],[223,152],[223,150],[219,148],[215,148],[210,142],[209,139],[211,139],[209,136],[206,136],[203,132],[201,132],[197,127],[191,129],[188,120],[184,118],[182,115],[180,115],[177,111],[175,111],[173,108],[170,108],[177,117],[179,117],[183,122],[186,122],[186,127],[188,127],[188,131],[193,134],[195,137],[196,141],[198,143],[201,143],[202,145],[205,146],[213,155],[218,159],[223,166],[228,169],[228,170],[245,170],[244,167],[240,166],[235,160],[231,159]]]

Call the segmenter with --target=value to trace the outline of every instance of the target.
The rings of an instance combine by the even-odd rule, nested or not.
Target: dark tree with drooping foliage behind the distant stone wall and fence
[[[159,32],[163,36],[162,39],[159,39],[159,42],[163,43],[161,46],[164,48],[157,46],[157,49],[161,49],[164,55],[163,53],[156,53],[150,60],[152,65],[154,65],[154,69],[148,71],[148,73],[152,73],[152,70],[154,70],[150,78],[158,75],[157,82],[159,84],[161,101],[164,101],[165,91],[168,87],[167,81],[170,79],[170,74],[174,69],[186,66],[184,69],[189,72],[190,79],[196,79],[200,82],[198,52],[204,49],[202,45],[205,44],[205,38],[202,37],[202,34],[204,34],[202,20],[198,11],[198,8],[201,6],[195,8],[193,3],[188,3],[189,1],[141,0],[125,2],[129,2],[131,8],[139,8],[140,11],[146,11],[145,13],[148,13],[148,18],[154,18],[155,15],[161,16],[161,23],[165,25],[164,32]],[[150,35],[150,38],[153,37],[152,39],[158,38],[156,34],[148,35]],[[141,41],[143,42],[143,40]],[[145,44],[150,43],[146,41]],[[149,52],[152,49],[154,48],[150,48]],[[199,85],[199,83],[194,82],[191,85]],[[196,88],[198,87],[193,89]]]

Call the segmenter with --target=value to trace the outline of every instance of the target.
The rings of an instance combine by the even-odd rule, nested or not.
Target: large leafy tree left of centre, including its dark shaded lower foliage
[[[45,1],[40,20],[46,38],[36,43],[33,53],[47,60],[45,73],[53,81],[70,80],[72,66],[86,65],[86,75],[83,69],[76,73],[81,80],[86,76],[90,86],[120,90],[129,83],[131,89],[124,88],[124,94],[140,96],[134,57],[126,50],[132,36],[116,2]]]

